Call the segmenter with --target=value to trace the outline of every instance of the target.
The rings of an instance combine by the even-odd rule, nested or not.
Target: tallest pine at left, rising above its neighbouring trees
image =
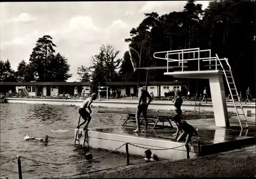
[[[36,46],[33,48],[29,61],[38,81],[49,80],[49,60],[54,58],[55,53],[53,47],[57,46],[52,42],[52,37],[49,35],[44,35],[36,41]]]

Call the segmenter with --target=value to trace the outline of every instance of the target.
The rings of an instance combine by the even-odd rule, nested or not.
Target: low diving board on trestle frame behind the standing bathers
[[[123,122],[122,126],[124,126],[127,121],[129,120],[135,120],[136,119],[136,113],[131,113],[131,111],[116,111],[116,110],[98,110],[99,113],[118,113],[118,114],[127,114],[128,117],[126,118],[126,120]],[[143,116],[141,115],[140,117],[140,124],[142,124],[143,121]],[[170,117],[170,115],[167,114],[157,114],[157,113],[148,113],[147,114],[147,120],[148,121],[152,121],[153,124],[148,123],[148,125],[153,125],[153,129],[155,129],[156,127],[162,127],[162,128],[173,128],[172,123],[170,123],[170,121],[172,121],[172,117]],[[157,125],[158,122],[160,122],[160,120],[162,121],[162,125]],[[170,125],[169,126],[164,126],[164,121],[167,121]]]

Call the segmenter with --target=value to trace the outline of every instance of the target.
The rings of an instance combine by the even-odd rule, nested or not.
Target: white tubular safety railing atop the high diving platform
[[[200,57],[202,54],[201,53],[205,53],[204,56],[206,57]],[[165,54],[164,58],[163,57],[157,57],[157,54]],[[184,58],[184,55],[188,54],[190,56],[190,54],[193,54],[193,58]],[[208,54],[208,55],[207,55]],[[171,58],[172,55],[178,55],[178,58]],[[206,62],[209,61],[209,70],[211,70],[211,66],[214,67],[214,70],[217,70],[217,66],[220,65],[218,62],[219,60],[226,60],[226,58],[223,59],[217,59],[217,57],[211,57],[211,50],[200,50],[200,48],[194,48],[194,49],[181,49],[181,50],[172,50],[172,51],[163,51],[163,52],[155,52],[154,53],[154,58],[157,59],[164,59],[167,60],[167,66],[166,66],[166,70],[167,72],[169,72],[169,62],[178,62],[178,65],[181,65],[181,71],[184,71],[184,63],[187,63],[188,61],[198,61],[198,71],[202,71],[202,69],[200,69],[200,62]],[[214,61],[215,64],[211,64],[211,62]],[[228,63],[228,62],[227,62]]]

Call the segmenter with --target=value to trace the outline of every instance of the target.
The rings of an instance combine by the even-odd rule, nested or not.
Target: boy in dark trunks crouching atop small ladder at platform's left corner
[[[87,98],[86,100],[83,101],[82,105],[78,109],[78,113],[81,115],[82,119],[84,120],[82,123],[77,125],[77,128],[79,128],[81,125],[86,124],[83,128],[83,130],[86,130],[87,125],[91,121],[91,116],[90,114],[92,113],[91,110],[91,104],[94,100],[96,100],[97,94],[93,93],[90,98]],[[89,112],[86,110],[88,108]]]

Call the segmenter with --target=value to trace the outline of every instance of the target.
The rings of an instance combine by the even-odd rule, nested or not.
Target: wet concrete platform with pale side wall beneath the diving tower
[[[214,119],[188,120],[187,122],[199,129],[199,136],[193,136],[192,140],[200,137],[201,156],[236,149],[245,145],[255,144],[255,117],[248,120],[249,129],[242,130],[235,118],[230,119],[228,128],[216,127]],[[173,122],[172,122],[173,123]],[[167,125],[167,123],[166,123]],[[184,144],[176,142],[173,133],[176,125],[170,129],[148,128],[147,133],[134,133],[134,127],[130,126],[106,126],[90,128],[88,131],[89,147],[115,150],[125,142],[133,143],[146,148],[173,148]],[[142,126],[143,128],[143,126]],[[81,129],[80,129],[81,132]],[[80,144],[83,144],[84,132],[81,132]],[[75,129],[76,135],[76,129]],[[87,145],[86,145],[87,146]],[[197,141],[189,145],[190,158],[199,156]],[[125,152],[125,146],[117,151]],[[144,148],[129,145],[129,153],[144,156]],[[185,146],[169,150],[152,150],[160,159],[180,160],[186,158]]]

